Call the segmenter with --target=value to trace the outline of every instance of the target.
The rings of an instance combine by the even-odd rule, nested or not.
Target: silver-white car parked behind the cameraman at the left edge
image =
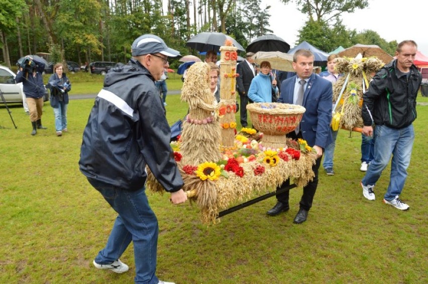
[[[0,65],[0,90],[7,103],[23,103],[22,83],[15,83],[16,74],[8,67]],[[49,91],[46,89],[43,101],[49,100]],[[0,98],[0,104],[3,103]]]

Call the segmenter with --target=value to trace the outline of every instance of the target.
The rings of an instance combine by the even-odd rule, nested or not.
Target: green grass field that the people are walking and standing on
[[[187,105],[179,95],[167,101],[172,124],[185,115]],[[134,281],[132,245],[121,257],[130,266],[124,274],[91,264],[116,218],[78,169],[92,104],[93,99],[70,101],[69,133],[62,137],[55,135],[48,102],[43,114],[48,129],[35,136],[22,107],[11,106],[15,129],[0,106],[0,283]],[[419,105],[417,111],[412,161],[401,195],[408,211],[381,202],[389,167],[375,188],[377,199],[362,196],[361,134],[340,130],[336,175],[320,170],[313,207],[302,225],[292,223],[301,189],[292,189],[287,213],[267,216],[275,203],[271,198],[211,226],[200,223],[196,206],[173,206],[168,194],[148,193],[160,228],[158,277],[179,284],[427,283],[428,106]]]

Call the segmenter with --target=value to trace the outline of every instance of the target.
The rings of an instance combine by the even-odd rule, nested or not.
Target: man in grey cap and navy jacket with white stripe
[[[187,200],[169,146],[165,108],[154,84],[168,65],[168,56],[178,55],[157,36],[137,38],[128,65],[105,75],[83,132],[80,171],[119,214],[93,265],[126,272],[128,265],[119,257],[133,241],[135,283],[168,283],[155,275],[159,229],[145,193],[146,165],[171,193],[173,204]]]

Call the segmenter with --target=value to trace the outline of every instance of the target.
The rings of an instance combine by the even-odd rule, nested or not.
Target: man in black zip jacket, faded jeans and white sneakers
[[[391,176],[383,202],[399,210],[409,208],[399,196],[410,164],[414,140],[412,122],[416,119],[416,96],[422,80],[413,64],[416,51],[414,41],[399,43],[395,52],[397,59],[376,73],[363,96],[363,134],[376,137],[374,160],[361,181],[363,196],[375,200],[374,186],[392,155]]]

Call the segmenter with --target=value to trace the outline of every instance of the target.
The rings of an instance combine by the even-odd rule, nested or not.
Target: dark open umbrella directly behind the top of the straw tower
[[[225,45],[226,40],[231,40],[232,44],[240,51],[245,49],[233,38],[222,33],[200,33],[187,41],[186,46],[196,49],[199,52],[214,50],[220,51],[220,47]]]

